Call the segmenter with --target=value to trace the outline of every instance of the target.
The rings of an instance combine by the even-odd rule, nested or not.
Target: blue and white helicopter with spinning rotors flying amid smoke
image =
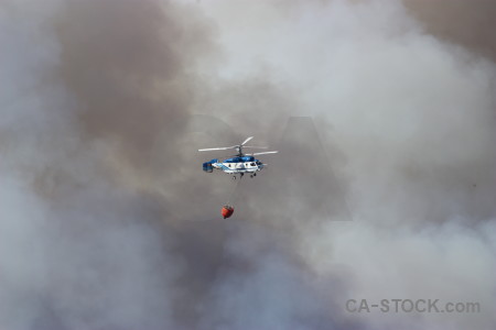
[[[250,177],[257,176],[257,172],[262,170],[267,164],[261,163],[259,160],[256,160],[254,156],[258,155],[266,155],[266,154],[277,154],[277,151],[270,151],[270,152],[261,152],[261,153],[252,153],[252,154],[245,154],[242,152],[244,147],[250,147],[250,148],[268,148],[267,146],[251,146],[251,145],[245,145],[249,141],[251,141],[254,136],[250,136],[246,139],[241,144],[233,145],[233,146],[225,146],[225,147],[209,147],[209,148],[201,148],[200,152],[205,151],[217,151],[217,150],[236,150],[237,154],[234,155],[231,158],[224,160],[222,162],[218,161],[218,158],[214,158],[209,162],[203,163],[203,170],[207,173],[214,172],[214,169],[220,169],[224,173],[233,174],[233,179],[236,179],[236,175],[239,175],[239,178],[241,178],[245,173],[249,173]]]

